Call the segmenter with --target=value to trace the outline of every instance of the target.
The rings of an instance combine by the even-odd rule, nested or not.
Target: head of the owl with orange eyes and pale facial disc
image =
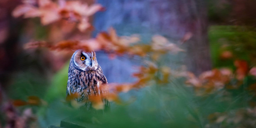
[[[72,62],[76,68],[83,71],[97,70],[98,68],[96,53],[94,51],[85,52],[83,50],[76,50],[70,60],[70,63]]]

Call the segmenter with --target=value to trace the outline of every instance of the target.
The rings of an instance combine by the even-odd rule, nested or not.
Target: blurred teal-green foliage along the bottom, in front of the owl
[[[123,102],[112,103],[111,110],[105,113],[71,109],[60,102],[63,98],[59,98],[49,103],[44,116],[39,116],[40,123],[43,126],[59,125],[64,118],[78,116],[80,121],[100,128],[204,128],[209,125],[208,116],[213,112],[229,113],[248,106],[246,98],[249,95],[246,92],[234,94],[223,89],[196,96],[193,88],[186,86],[183,81],[175,79],[163,86],[153,85],[121,93]]]

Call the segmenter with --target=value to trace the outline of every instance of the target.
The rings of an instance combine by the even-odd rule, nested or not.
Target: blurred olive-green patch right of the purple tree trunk
[[[236,59],[255,63],[253,60],[256,57],[255,35],[256,32],[248,27],[211,26],[209,28],[209,42],[214,67],[228,66],[234,68],[233,62]],[[228,60],[221,59],[221,53],[226,50],[231,51],[234,57]]]

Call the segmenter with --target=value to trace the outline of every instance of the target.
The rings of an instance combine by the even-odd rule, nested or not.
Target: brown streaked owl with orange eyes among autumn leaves
[[[76,101],[88,101],[90,95],[108,93],[108,81],[97,62],[95,52],[76,50],[70,59],[66,96],[77,93]],[[109,106],[108,101],[103,102]]]

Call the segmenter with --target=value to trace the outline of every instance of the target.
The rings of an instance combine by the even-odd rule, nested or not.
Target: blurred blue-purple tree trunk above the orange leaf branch
[[[138,33],[143,41],[149,41],[151,35],[160,34],[176,42],[192,33],[193,37],[183,45],[187,51],[183,62],[188,70],[199,74],[211,69],[204,1],[98,0],[106,11],[96,14],[94,26],[96,32],[112,26],[118,35]]]

